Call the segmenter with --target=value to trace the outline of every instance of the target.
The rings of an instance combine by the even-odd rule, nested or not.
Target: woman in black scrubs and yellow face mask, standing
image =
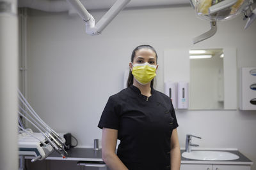
[[[129,67],[127,89],[109,97],[100,118],[102,159],[111,170],[178,170],[180,146],[172,101],[153,89],[156,50],[137,46]]]

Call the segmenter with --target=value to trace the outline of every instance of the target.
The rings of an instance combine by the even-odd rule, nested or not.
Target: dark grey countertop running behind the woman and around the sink
[[[215,150],[216,151],[216,150]],[[239,156],[236,160],[193,160],[181,157],[181,164],[237,164],[237,165],[252,165],[252,160],[248,159],[243,155],[243,153],[238,150],[218,150],[231,152]],[[76,160],[76,161],[93,161],[102,162],[102,152],[101,150],[93,150],[93,148],[71,148],[67,151],[67,158],[63,159],[61,155],[57,152],[51,153],[46,160]],[[180,153],[185,152],[185,150],[180,150]],[[25,157],[25,159],[33,159],[33,157]]]

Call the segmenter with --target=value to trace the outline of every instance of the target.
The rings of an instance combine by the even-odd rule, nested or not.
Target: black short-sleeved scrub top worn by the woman
[[[177,119],[170,97],[135,86],[109,97],[98,127],[118,130],[117,156],[130,170],[170,170],[170,138]]]

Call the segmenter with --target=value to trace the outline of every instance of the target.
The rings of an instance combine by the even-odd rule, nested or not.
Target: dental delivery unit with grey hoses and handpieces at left
[[[30,106],[26,98],[19,91],[19,134],[18,145],[19,155],[35,156],[31,162],[36,160],[44,160],[54,150],[60,153],[65,158],[65,139],[51,129],[45,122],[36,114],[35,110]],[[22,119],[29,122],[39,132],[33,132],[31,129],[25,129],[22,124]]]

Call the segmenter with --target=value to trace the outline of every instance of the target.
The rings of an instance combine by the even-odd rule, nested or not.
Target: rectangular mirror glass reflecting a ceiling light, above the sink
[[[224,109],[223,49],[189,50],[189,109]]]

